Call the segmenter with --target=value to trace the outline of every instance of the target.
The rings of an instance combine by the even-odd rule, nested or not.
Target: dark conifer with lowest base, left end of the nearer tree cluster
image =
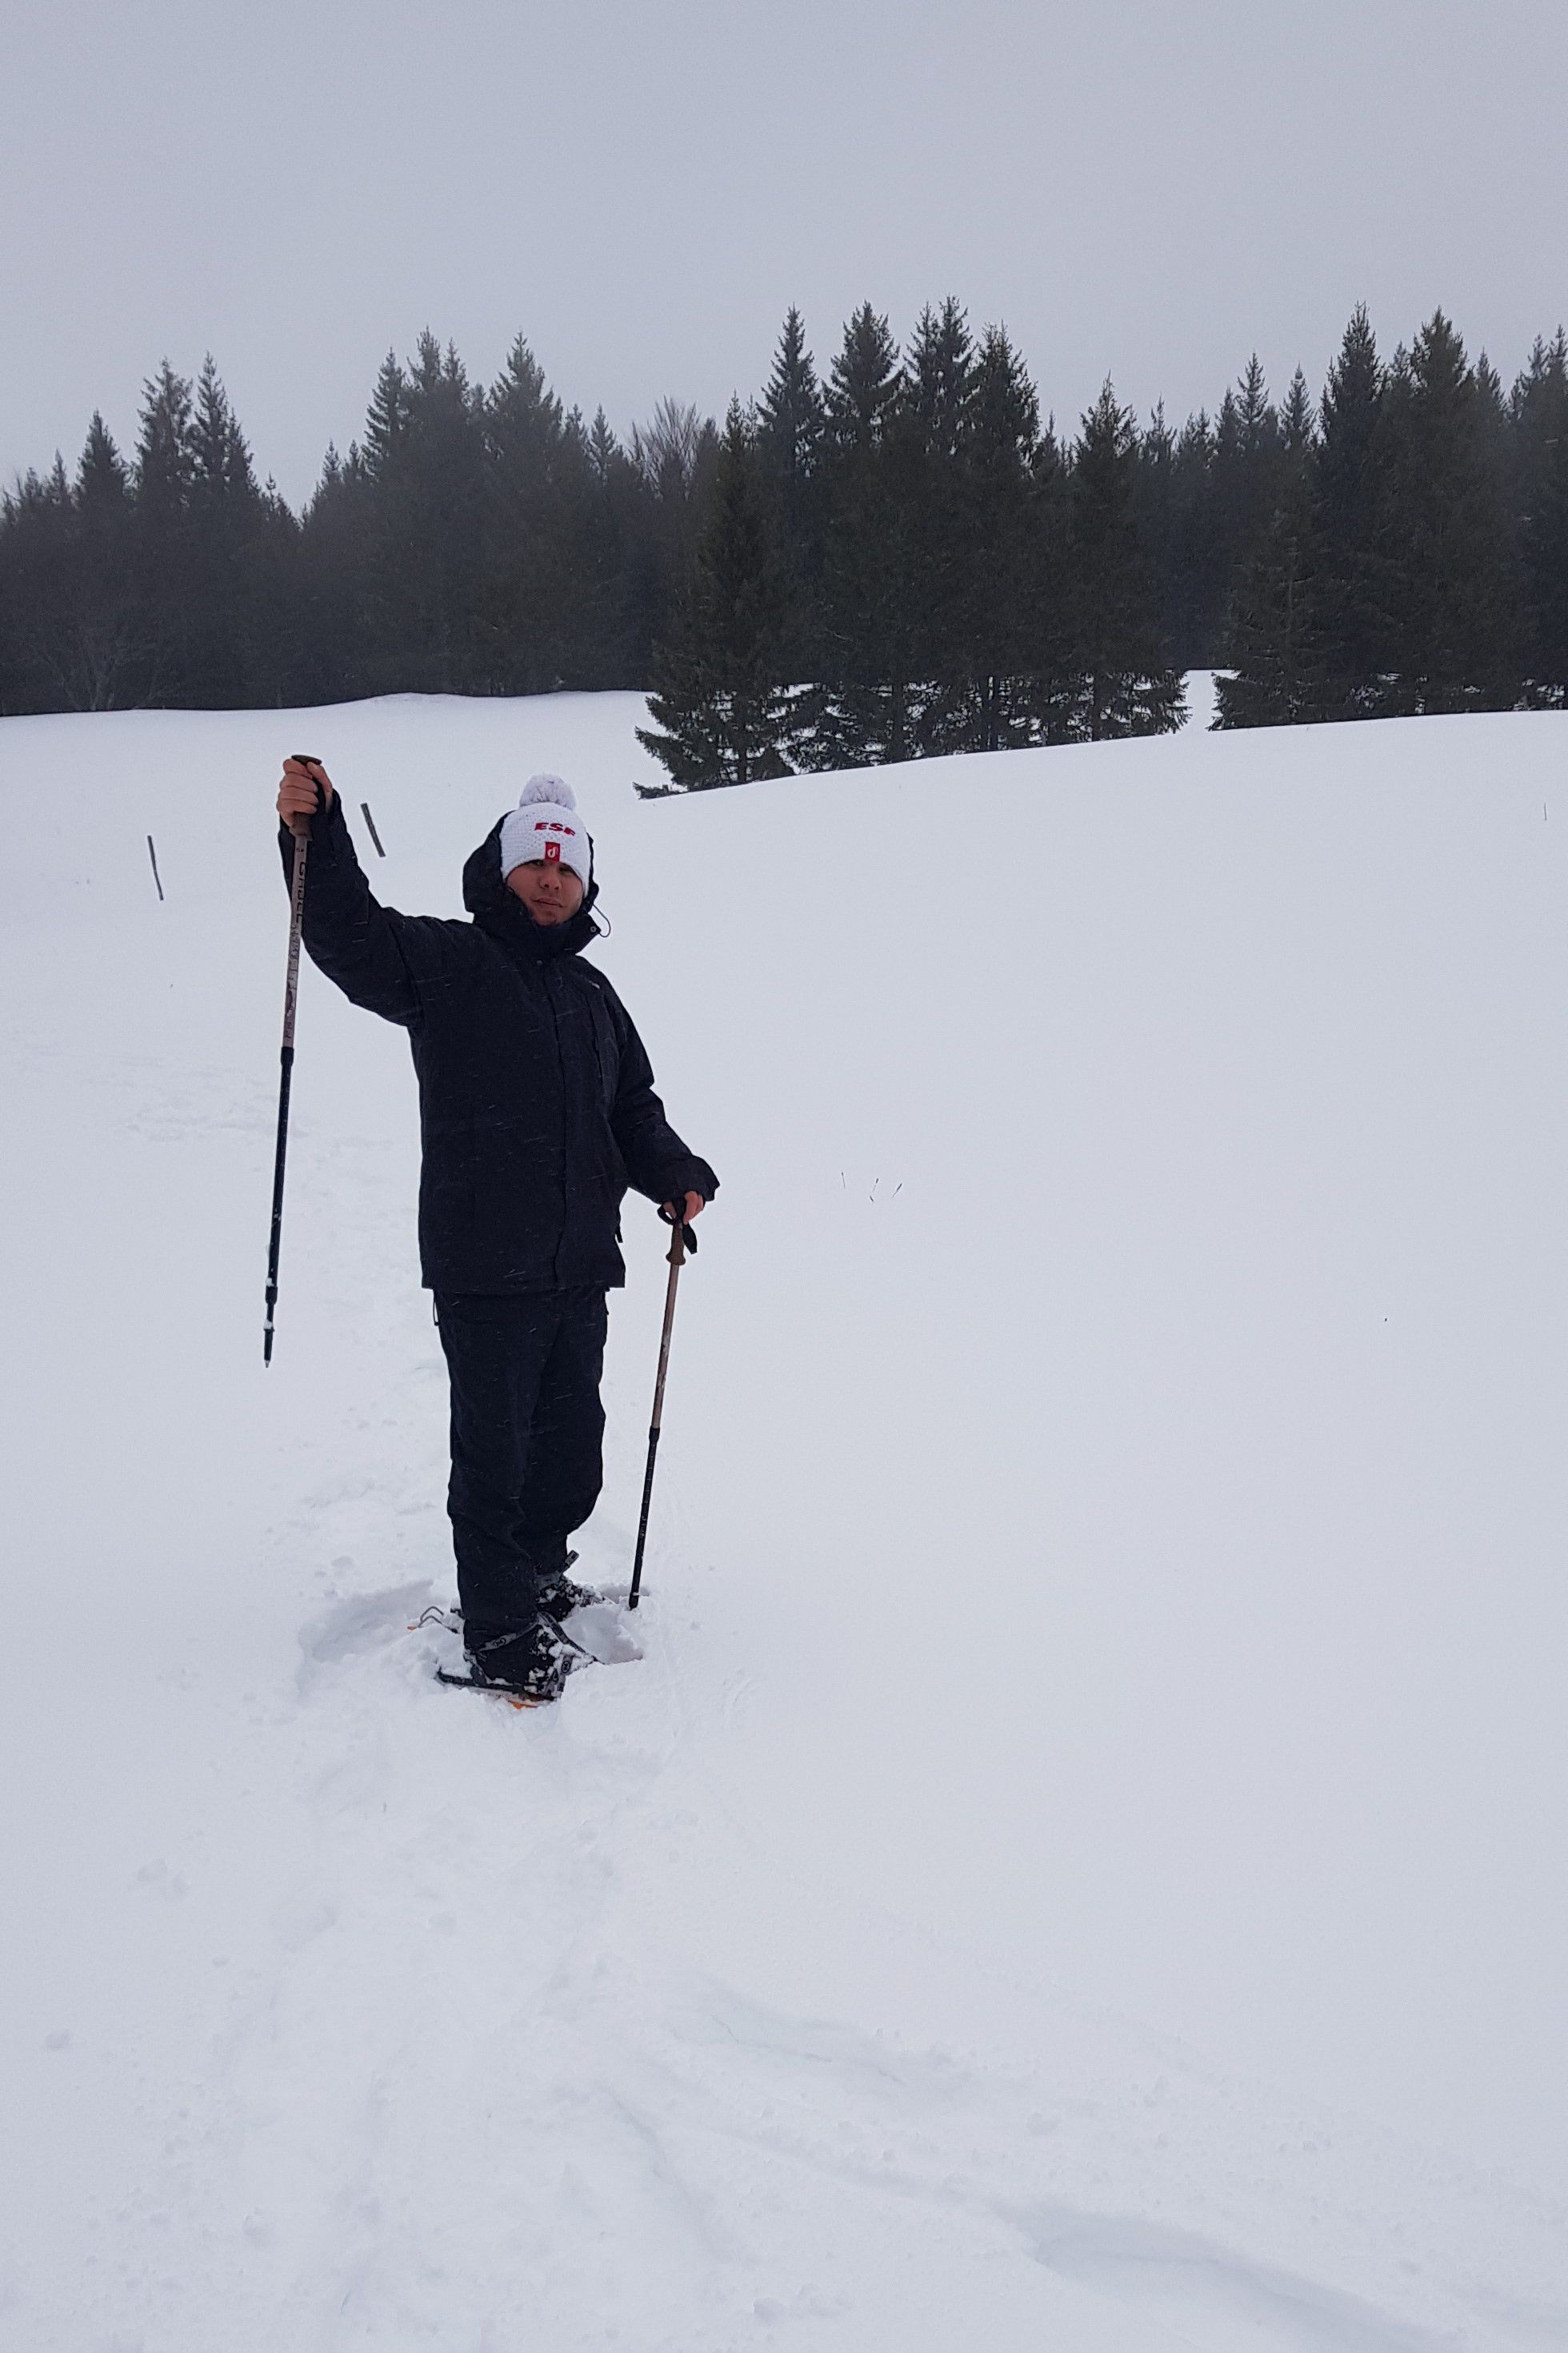
[[[741,402],[731,402],[689,598],[654,656],[637,741],[684,791],[788,776],[792,696],[780,682],[783,598],[769,504]]]

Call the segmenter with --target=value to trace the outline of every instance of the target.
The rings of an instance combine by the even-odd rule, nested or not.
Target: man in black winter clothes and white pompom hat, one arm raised
[[[628,1184],[691,1221],[719,1179],[665,1120],[597,939],[592,842],[534,776],[463,868],[473,922],[378,906],[320,762],[277,788],[284,878],[310,833],[303,941],[329,981],[409,1033],[423,1165],[418,1254],[451,1377],[451,1541],[473,1673],[564,1682],[585,1600],[567,1539],[599,1497],[604,1294],[625,1282]]]

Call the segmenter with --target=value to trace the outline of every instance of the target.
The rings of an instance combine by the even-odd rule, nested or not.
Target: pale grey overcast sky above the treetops
[[[1568,0],[7,0],[0,478],[212,351],[294,501],[421,327],[522,329],[628,431],[788,304],[954,292],[1077,419],[1110,372],[1316,391],[1366,301],[1505,379],[1568,313]]]

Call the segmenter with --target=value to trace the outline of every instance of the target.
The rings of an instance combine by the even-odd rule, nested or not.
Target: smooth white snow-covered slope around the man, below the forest
[[[0,2341],[1568,2346],[1568,722],[637,802],[635,718],[0,727]],[[407,1631],[414,1080],[315,972],[261,1369],[292,748],[428,913],[567,774],[724,1179],[550,1713]]]

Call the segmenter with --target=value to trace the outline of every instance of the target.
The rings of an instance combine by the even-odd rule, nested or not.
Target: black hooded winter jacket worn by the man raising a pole
[[[287,826],[280,849],[289,880]],[[310,824],[306,951],[414,1047],[425,1289],[614,1287],[628,1184],[658,1202],[717,1193],[665,1120],[621,998],[576,953],[597,936],[592,899],[536,925],[501,880],[496,826],[463,868],[473,922],[400,915],[371,896],[343,802]]]

